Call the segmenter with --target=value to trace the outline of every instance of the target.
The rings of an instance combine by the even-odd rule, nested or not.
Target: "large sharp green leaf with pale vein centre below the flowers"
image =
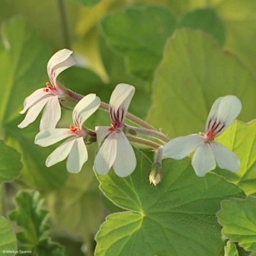
[[[96,235],[95,254],[217,255],[223,241],[215,214],[221,200],[244,197],[243,191],[212,173],[197,177],[188,159],[165,159],[162,182],[150,186],[152,163],[137,150],[136,157],[129,177],[113,170],[97,176],[104,195],[129,211],[107,217]]]

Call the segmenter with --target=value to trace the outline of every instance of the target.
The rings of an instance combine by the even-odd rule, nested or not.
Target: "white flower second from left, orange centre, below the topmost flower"
[[[46,166],[52,166],[67,159],[68,172],[78,173],[88,159],[84,138],[87,135],[83,130],[84,121],[91,116],[100,106],[100,99],[95,94],[88,94],[81,99],[73,111],[74,125],[70,129],[49,129],[40,131],[35,138],[35,143],[47,147],[65,138],[56,150],[46,159]]]

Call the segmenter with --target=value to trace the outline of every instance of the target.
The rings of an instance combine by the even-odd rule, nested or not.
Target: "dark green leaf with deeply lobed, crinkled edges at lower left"
[[[20,248],[33,250],[38,255],[64,255],[63,247],[52,243],[45,225],[49,212],[42,209],[44,200],[38,191],[22,191],[15,197],[16,209],[9,215],[24,230],[17,233]],[[21,250],[22,250],[21,249]]]

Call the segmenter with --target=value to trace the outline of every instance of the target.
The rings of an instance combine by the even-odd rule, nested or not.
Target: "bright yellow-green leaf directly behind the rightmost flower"
[[[216,140],[237,154],[241,167],[236,173],[219,168],[215,172],[247,195],[256,195],[256,120],[248,124],[236,121]]]

